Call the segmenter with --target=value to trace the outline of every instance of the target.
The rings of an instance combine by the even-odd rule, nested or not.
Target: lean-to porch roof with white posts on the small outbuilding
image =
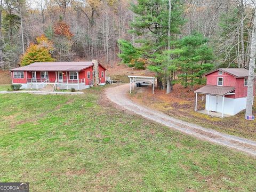
[[[197,94],[205,94],[208,95],[208,103],[210,102],[210,95],[214,96],[221,96],[222,97],[222,110],[221,110],[221,117],[224,116],[224,102],[225,102],[225,95],[233,95],[235,94],[235,87],[230,86],[217,86],[217,85],[205,85],[201,87],[200,89],[196,90],[196,105],[195,105],[195,111],[197,111]],[[207,114],[210,114],[210,109],[208,108]]]

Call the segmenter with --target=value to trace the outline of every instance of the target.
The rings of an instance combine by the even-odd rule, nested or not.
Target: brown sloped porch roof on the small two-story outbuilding
[[[196,90],[195,93],[223,96],[234,91],[235,89],[235,87],[230,86],[205,85],[200,89]]]

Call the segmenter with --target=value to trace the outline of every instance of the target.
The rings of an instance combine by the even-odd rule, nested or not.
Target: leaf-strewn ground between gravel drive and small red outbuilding
[[[195,87],[197,89],[198,87]],[[180,85],[175,85],[170,94],[165,94],[164,90],[155,90],[151,93],[151,87],[135,89],[130,98],[135,102],[146,105],[153,109],[160,110],[167,115],[179,118],[183,121],[195,123],[203,127],[211,128],[220,132],[237,135],[240,137],[256,140],[256,122],[244,119],[245,111],[227,117],[218,118],[201,114],[195,111],[195,93],[184,89]],[[197,109],[205,109],[205,95],[198,96]],[[256,114],[256,99],[254,99],[253,114]]]

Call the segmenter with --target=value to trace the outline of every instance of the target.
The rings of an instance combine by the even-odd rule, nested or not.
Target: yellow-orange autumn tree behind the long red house
[[[36,38],[36,44],[31,43],[26,53],[21,58],[21,66],[29,65],[33,62],[49,62],[54,61],[51,52],[53,50],[52,42],[41,35]]]

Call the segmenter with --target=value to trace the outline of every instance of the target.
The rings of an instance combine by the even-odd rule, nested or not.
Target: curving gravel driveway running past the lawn
[[[109,87],[106,90],[106,96],[110,101],[116,103],[119,107],[122,107],[126,110],[130,110],[135,114],[141,115],[145,118],[166,125],[172,129],[179,130],[189,135],[193,135],[198,139],[217,143],[219,145],[244,151],[245,153],[256,156],[255,141],[236,137],[225,133],[220,133],[212,129],[206,129],[202,126],[183,122],[179,119],[175,119],[173,117],[165,115],[160,111],[154,111],[153,109],[141,106],[138,103],[134,103],[126,97],[126,94],[129,89],[129,84]]]

